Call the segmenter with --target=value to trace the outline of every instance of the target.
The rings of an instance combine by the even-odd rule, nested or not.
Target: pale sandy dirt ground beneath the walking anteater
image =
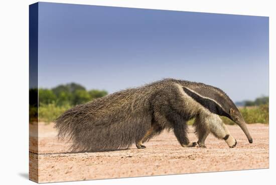
[[[235,148],[212,135],[206,139],[207,148],[183,148],[172,132],[163,132],[145,143],[146,149],[133,145],[109,152],[68,153],[70,143],[57,140],[52,123],[30,124],[30,179],[54,182],[269,167],[268,125],[248,125],[252,144],[238,126],[227,127],[237,140]],[[197,141],[192,127],[189,138]]]

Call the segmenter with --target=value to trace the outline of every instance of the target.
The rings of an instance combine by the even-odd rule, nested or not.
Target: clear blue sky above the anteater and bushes
[[[39,3],[39,87],[109,93],[172,77],[268,96],[268,17]]]

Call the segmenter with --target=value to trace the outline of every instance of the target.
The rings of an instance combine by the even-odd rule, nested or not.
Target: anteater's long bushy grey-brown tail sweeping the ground
[[[121,119],[116,115],[93,115],[87,109],[87,104],[76,106],[55,122],[59,139],[73,141],[71,151],[95,152],[127,148],[141,140],[151,126],[150,115],[133,115]]]

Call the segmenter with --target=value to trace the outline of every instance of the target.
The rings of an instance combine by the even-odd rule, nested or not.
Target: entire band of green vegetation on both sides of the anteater
[[[39,94],[39,105],[37,105],[37,91]],[[58,85],[54,88],[30,89],[30,122],[39,121],[50,123],[66,110],[97,98],[106,96],[106,90],[91,89],[86,90],[80,84],[68,83]],[[269,118],[269,98],[259,97],[254,101],[243,101],[236,104],[246,123],[268,124]],[[39,106],[39,109],[38,109]],[[230,119],[221,117],[225,124],[234,124]],[[188,124],[193,124],[193,120]]]

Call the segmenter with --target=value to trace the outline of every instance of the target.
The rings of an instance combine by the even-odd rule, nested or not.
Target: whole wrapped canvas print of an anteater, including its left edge
[[[260,169],[268,17],[30,5],[30,179]]]

